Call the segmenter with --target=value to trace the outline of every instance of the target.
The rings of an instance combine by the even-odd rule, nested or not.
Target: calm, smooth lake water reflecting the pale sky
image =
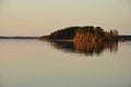
[[[88,49],[1,39],[0,87],[131,87],[131,41]]]

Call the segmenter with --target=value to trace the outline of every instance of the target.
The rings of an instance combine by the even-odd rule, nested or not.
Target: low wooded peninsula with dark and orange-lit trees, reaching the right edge
[[[131,40],[131,36],[118,35],[117,29],[107,32],[99,26],[72,26],[41,36],[39,39],[48,41],[108,42]]]

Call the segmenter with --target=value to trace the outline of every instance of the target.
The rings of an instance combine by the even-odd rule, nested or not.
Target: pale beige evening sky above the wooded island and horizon
[[[0,0],[0,36],[43,36],[69,26],[131,35],[131,0]]]

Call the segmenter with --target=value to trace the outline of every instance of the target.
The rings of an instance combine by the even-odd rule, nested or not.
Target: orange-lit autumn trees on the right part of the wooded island
[[[97,26],[84,26],[76,29],[74,41],[81,42],[104,42],[104,41],[117,41],[118,30],[105,32],[102,27]]]

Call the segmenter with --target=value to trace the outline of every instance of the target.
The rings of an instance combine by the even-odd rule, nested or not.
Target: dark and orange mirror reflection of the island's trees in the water
[[[118,42],[74,42],[74,41],[53,41],[52,47],[66,52],[85,53],[87,55],[100,54],[104,50],[117,52]]]

